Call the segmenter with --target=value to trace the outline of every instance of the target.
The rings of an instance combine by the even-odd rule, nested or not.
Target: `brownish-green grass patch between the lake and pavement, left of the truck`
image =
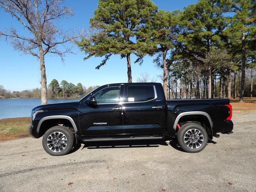
[[[28,136],[29,125],[29,117],[0,120],[0,140],[9,140]]]

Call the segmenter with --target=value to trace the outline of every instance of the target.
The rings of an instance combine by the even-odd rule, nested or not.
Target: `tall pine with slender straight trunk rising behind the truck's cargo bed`
[[[226,19],[218,0],[200,0],[185,8],[184,14],[191,22],[193,32],[190,38],[195,38],[192,43],[198,44],[205,52],[208,72],[208,98],[212,97],[212,69],[211,51],[220,41],[220,33],[226,27]]]

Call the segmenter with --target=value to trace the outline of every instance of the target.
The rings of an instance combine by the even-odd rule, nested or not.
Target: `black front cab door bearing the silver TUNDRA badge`
[[[80,129],[83,136],[124,134],[122,98],[124,86],[105,86],[95,96],[96,104],[80,104]]]

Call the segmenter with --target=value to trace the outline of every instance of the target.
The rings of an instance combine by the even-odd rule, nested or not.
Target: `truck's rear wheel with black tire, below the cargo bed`
[[[194,132],[194,134],[193,134],[193,130],[194,131],[196,130],[196,132]],[[196,133],[199,133],[197,130],[200,131],[202,134],[196,134]],[[189,136],[191,134],[191,136],[190,136],[191,140],[188,138],[184,138],[185,134],[186,134],[186,136]],[[196,135],[196,137],[194,137],[194,135]],[[199,124],[187,123],[187,124],[184,124],[178,130],[177,140],[178,140],[178,144],[185,152],[197,153],[197,152],[202,151],[205,148],[205,146],[208,142],[208,134],[207,134],[206,130]],[[185,142],[185,140],[186,140],[186,142]]]

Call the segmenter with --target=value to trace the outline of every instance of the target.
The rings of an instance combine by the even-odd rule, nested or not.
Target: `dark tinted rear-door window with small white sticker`
[[[155,92],[152,85],[129,85],[127,87],[128,102],[143,102],[154,98]]]

